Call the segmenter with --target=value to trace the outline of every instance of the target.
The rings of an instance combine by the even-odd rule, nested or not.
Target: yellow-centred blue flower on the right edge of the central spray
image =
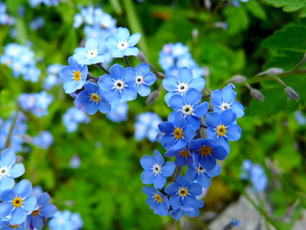
[[[232,109],[226,109],[220,115],[217,112],[211,112],[205,117],[205,125],[208,127],[207,138],[217,140],[228,152],[230,151],[228,140],[236,141],[241,137],[241,128],[233,124],[236,117]]]

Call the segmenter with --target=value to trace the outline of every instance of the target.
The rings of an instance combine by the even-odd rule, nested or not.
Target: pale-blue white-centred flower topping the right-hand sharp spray
[[[205,79],[195,78],[192,79],[192,71],[187,67],[184,67],[178,73],[178,76],[168,75],[162,80],[162,85],[164,88],[169,91],[165,95],[165,102],[169,106],[169,99],[174,94],[180,94],[181,96],[185,95],[186,92],[192,88],[202,91],[205,86]]]

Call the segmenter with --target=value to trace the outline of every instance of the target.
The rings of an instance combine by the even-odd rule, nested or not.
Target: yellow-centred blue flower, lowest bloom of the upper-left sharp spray
[[[84,103],[84,109],[86,113],[92,115],[98,110],[101,113],[107,113],[110,111],[110,104],[106,100],[106,93],[100,89],[97,84],[93,82],[86,82],[84,84],[85,90],[81,91],[76,101],[80,104]]]

